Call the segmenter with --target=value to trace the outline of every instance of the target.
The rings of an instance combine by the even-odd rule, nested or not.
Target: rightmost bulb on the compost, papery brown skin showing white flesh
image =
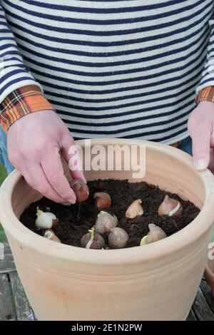
[[[172,199],[168,195],[165,195],[165,198],[158,208],[158,215],[159,216],[176,216],[182,215],[183,213],[183,206],[181,205],[180,201]]]

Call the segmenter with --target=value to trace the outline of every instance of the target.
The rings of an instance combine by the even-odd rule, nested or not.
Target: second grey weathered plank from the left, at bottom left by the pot
[[[11,272],[9,278],[14,294],[17,319],[19,321],[34,321],[34,312],[31,309],[17,272]]]

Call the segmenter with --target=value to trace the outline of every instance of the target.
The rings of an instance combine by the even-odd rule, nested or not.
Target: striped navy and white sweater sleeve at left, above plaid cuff
[[[0,0],[0,103],[17,88],[29,85],[42,90],[23,62]]]

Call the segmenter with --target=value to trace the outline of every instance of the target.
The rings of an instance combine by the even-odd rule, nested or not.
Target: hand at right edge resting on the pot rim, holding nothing
[[[195,169],[214,172],[214,103],[201,101],[188,120]]]

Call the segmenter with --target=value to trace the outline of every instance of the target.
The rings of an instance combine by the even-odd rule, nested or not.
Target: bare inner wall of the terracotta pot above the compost
[[[126,144],[127,145],[127,144]],[[106,166],[108,161],[112,160],[108,155],[107,144],[106,148]],[[91,161],[96,155],[91,155]],[[84,162],[84,150],[83,150],[83,169],[85,166]],[[138,153],[137,160],[139,162],[140,155]],[[186,160],[185,160],[186,158]],[[175,148],[168,148],[165,145],[146,145],[146,175],[141,178],[134,178],[133,172],[136,172],[131,167],[130,170],[124,170],[126,165],[127,155],[124,153],[121,155],[121,167],[122,170],[116,170],[116,164],[113,162],[113,170],[86,170],[86,180],[95,179],[128,179],[131,182],[140,182],[142,180],[158,185],[161,189],[167,190],[168,192],[177,193],[183,200],[190,200],[197,207],[201,209],[205,200],[205,187],[203,186],[202,180],[195,172],[192,164],[190,164],[190,158],[188,155],[182,153],[180,150]],[[68,177],[71,180],[71,174],[68,170],[68,165],[63,161],[63,167]],[[143,163],[143,162],[142,162]],[[33,190],[24,178],[21,177],[14,187],[12,193],[11,202],[14,209],[15,215],[19,218],[24,209],[36,200],[39,200],[41,195],[36,190]]]

